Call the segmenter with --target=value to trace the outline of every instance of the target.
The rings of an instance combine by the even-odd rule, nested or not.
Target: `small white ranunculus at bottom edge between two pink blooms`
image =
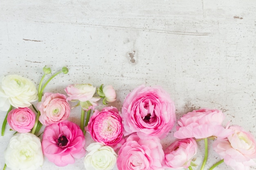
[[[117,161],[117,154],[110,146],[99,142],[90,144],[83,161],[86,170],[111,170]]]

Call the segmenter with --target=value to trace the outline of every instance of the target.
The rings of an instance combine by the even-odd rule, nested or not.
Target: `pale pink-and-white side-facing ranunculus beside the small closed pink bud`
[[[91,84],[74,84],[65,88],[68,95],[67,100],[73,102],[79,100],[84,110],[94,109],[95,106],[98,106],[97,101],[101,98],[93,97],[95,91],[96,87]]]

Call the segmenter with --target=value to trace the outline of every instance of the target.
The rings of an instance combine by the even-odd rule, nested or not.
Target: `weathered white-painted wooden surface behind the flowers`
[[[43,66],[67,66],[69,74],[46,91],[112,84],[120,110],[133,88],[157,84],[171,94],[177,118],[218,108],[226,114],[224,124],[256,136],[255,9],[254,0],[0,0],[0,75],[19,74],[38,84]],[[79,114],[73,110],[71,119]],[[0,137],[0,169],[11,135]],[[207,167],[219,160],[209,152]],[[82,162],[59,168],[45,159],[41,169],[84,169]]]

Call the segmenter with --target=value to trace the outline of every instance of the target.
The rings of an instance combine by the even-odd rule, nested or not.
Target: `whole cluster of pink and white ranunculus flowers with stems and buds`
[[[101,98],[103,104],[115,102],[116,93],[111,85],[98,89],[91,84],[69,85],[65,88],[67,96],[43,93],[52,78],[68,70],[63,67],[42,87],[43,79],[51,73],[48,67],[43,71],[38,91],[31,80],[19,75],[0,78],[0,110],[9,109],[2,135],[7,122],[17,131],[4,151],[4,169],[7,166],[11,170],[35,170],[43,165],[44,156],[56,166],[66,166],[85,156],[86,170],[111,170],[115,164],[119,170],[192,170],[196,166],[193,160],[197,141],[204,140],[203,170],[208,158],[208,139],[215,140],[213,149],[222,159],[209,170],[222,162],[234,170],[249,170],[255,165],[253,135],[240,126],[223,127],[225,115],[220,110],[200,109],[183,115],[177,121],[177,139],[163,150],[160,140],[171,131],[176,116],[174,102],[160,86],[135,88],[126,96],[121,112],[113,106],[97,110]],[[35,114],[29,106],[37,100],[37,109],[32,105]],[[81,106],[80,126],[68,120],[73,108],[69,102],[76,102],[73,107]],[[43,125],[40,141],[36,135]],[[86,150],[85,132],[95,141]]]

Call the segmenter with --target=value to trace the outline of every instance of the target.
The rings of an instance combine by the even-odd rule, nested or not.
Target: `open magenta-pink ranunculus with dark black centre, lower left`
[[[46,126],[43,133],[43,154],[57,166],[75,163],[85,155],[85,138],[80,127],[65,120]]]

